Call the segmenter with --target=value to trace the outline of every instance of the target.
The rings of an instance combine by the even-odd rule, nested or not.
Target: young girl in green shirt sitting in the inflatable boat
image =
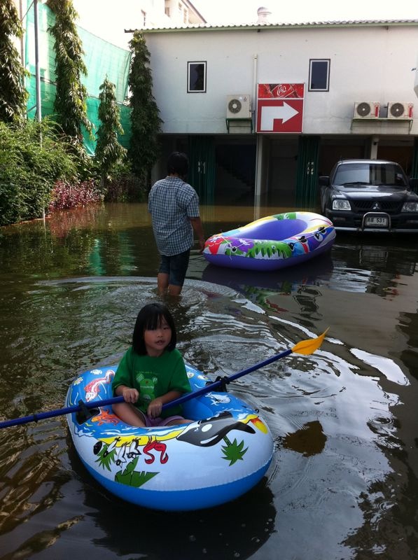
[[[139,311],[132,346],[116,370],[112,388],[125,402],[113,412],[132,426],[168,426],[188,423],[181,406],[162,411],[162,405],[190,393],[186,367],[176,349],[176,326],[165,305],[151,303]]]

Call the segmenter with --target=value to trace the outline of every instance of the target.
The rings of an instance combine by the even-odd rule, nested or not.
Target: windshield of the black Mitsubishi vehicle
[[[343,163],[338,166],[333,183],[342,186],[407,186],[400,167],[391,163]]]

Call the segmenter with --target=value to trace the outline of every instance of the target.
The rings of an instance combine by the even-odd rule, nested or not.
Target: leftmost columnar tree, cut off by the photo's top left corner
[[[26,71],[20,62],[13,36],[23,34],[18,10],[13,0],[0,2],[0,120],[11,123],[26,116]]]

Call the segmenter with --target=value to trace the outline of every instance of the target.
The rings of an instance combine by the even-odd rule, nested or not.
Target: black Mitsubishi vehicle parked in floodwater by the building
[[[418,232],[418,179],[384,160],[341,160],[320,176],[321,213],[336,230]]]

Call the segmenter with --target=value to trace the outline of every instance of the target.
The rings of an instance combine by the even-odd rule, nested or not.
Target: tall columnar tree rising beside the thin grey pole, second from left
[[[48,31],[55,39],[56,119],[71,144],[80,151],[79,148],[83,146],[83,127],[91,132],[92,125],[87,116],[88,93],[81,83],[81,77],[87,75],[87,67],[74,23],[78,14],[72,0],[47,0],[47,6],[55,14],[55,24]]]

